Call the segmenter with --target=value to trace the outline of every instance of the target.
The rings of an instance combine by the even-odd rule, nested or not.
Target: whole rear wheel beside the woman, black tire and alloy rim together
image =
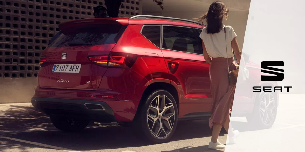
[[[157,99],[159,99],[159,106],[156,106]],[[166,90],[159,89],[150,93],[141,102],[143,104],[139,107],[132,124],[135,134],[153,143],[168,142],[178,123],[178,109],[174,97]],[[159,112],[156,107],[159,107]]]

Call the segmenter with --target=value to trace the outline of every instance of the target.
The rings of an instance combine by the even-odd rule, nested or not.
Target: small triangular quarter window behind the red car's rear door
[[[161,26],[144,26],[142,35],[157,47],[160,47]]]

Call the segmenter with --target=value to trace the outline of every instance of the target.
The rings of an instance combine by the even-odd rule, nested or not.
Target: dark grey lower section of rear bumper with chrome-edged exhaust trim
[[[98,122],[116,122],[115,114],[106,102],[33,97],[32,105],[47,115],[90,119]]]

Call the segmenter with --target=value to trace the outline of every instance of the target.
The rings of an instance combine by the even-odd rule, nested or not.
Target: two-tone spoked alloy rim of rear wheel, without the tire
[[[175,123],[175,109],[166,95],[156,96],[147,111],[147,123],[150,132],[157,138],[170,134]]]

